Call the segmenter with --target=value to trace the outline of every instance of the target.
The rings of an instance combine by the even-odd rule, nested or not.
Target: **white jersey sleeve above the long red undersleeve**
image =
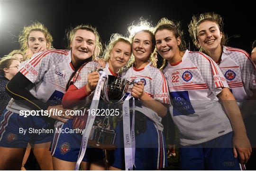
[[[91,73],[99,64],[91,61],[82,66],[81,70],[75,74],[72,79],[73,84],[78,88],[82,88],[88,82],[88,74]]]

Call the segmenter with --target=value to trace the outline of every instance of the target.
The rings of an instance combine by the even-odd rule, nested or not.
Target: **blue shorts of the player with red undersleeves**
[[[67,123],[58,123],[57,129],[70,130],[72,128],[72,120],[67,120]],[[78,133],[57,133],[55,132],[54,140],[51,144],[52,156],[68,161],[76,162],[80,152],[82,143],[82,134]],[[96,162],[105,157],[104,150],[100,148],[93,148],[87,145],[85,155],[82,159],[84,162]]]

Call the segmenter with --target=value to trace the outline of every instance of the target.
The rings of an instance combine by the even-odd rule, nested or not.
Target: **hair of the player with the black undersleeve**
[[[94,60],[96,57],[98,57],[101,52],[102,52],[102,44],[101,44],[101,38],[100,38],[100,35],[97,31],[97,29],[95,27],[92,27],[91,25],[79,25],[79,26],[76,26],[74,28],[71,28],[66,36],[67,36],[67,39],[68,39],[68,49],[71,49],[70,48],[70,45],[73,41],[73,38],[74,38],[74,35],[76,33],[77,30],[87,30],[87,31],[91,31],[95,37],[96,37],[96,40],[95,40],[95,48],[94,48],[94,51],[93,51],[93,54],[92,54],[92,60]]]

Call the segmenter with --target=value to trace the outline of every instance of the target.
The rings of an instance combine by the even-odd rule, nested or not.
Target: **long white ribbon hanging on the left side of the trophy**
[[[92,111],[92,109],[95,112],[97,111],[98,105],[99,105],[99,99],[101,97],[101,86],[102,86],[102,83],[105,79],[106,73],[100,71],[99,74],[100,74],[100,79],[97,83],[97,86],[96,86],[96,89],[95,89],[95,92],[94,92],[94,95],[93,95],[93,99],[92,99],[91,107],[90,107],[90,112]],[[86,126],[84,128],[84,134],[82,135],[82,144],[81,144],[80,152],[79,152],[79,155],[78,155],[78,160],[75,164],[75,171],[79,170],[80,163],[82,162],[82,159],[84,157],[86,147],[87,147],[87,144],[88,144],[88,139],[89,139],[89,136],[90,136],[90,133],[91,133],[91,128],[93,126],[95,117],[96,117],[96,115],[91,115],[91,113],[88,116]]]

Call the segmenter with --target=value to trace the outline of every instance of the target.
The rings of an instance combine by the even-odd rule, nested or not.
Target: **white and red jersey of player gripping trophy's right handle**
[[[144,83],[144,91],[148,96],[161,103],[170,103],[164,74],[159,69],[155,68],[152,63],[148,63],[144,68],[138,70],[135,67],[130,67],[122,72],[122,76],[128,81],[133,81],[137,78],[140,79],[140,81]],[[131,87],[129,88],[131,89]],[[151,111],[151,116],[146,115],[148,111]],[[159,124],[161,117],[158,117],[153,110],[146,110],[142,113],[155,122],[157,129],[162,130],[162,124]]]

